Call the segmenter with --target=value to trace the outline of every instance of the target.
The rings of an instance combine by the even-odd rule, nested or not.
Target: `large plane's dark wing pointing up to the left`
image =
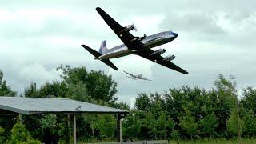
[[[98,14],[102,16],[106,24],[110,26],[115,34],[118,35],[118,38],[122,40],[129,50],[138,50],[143,47],[143,43],[137,39],[138,37],[134,37],[129,31],[123,31],[125,28],[111,18],[109,14],[106,14],[104,10],[99,7],[97,7],[96,10],[98,11]],[[121,31],[122,33],[120,33]]]

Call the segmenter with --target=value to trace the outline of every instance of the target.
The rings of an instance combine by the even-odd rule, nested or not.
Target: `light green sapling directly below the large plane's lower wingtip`
[[[179,125],[182,127],[183,130],[186,131],[187,134],[190,134],[190,139],[192,140],[193,135],[196,134],[198,130],[198,123],[194,121],[190,110],[188,110],[187,108],[184,109],[186,115],[181,118],[181,122],[179,123]]]

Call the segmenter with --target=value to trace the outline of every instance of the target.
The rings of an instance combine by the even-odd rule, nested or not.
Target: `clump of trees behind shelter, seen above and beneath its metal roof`
[[[112,80],[110,75],[106,75],[102,71],[91,70],[87,72],[83,66],[75,68],[60,66],[57,70],[62,70],[62,82],[46,82],[38,89],[36,84],[31,83],[25,89],[24,95],[26,97],[71,98],[105,106],[126,106],[115,102],[117,98],[114,98],[114,94],[117,92],[117,84]],[[126,106],[126,108],[129,110],[129,106]],[[34,131],[34,136],[43,142],[46,142],[47,139],[51,139],[51,142],[59,140],[67,142],[70,129],[65,128],[68,125],[66,118],[66,115],[42,114],[34,118],[26,117],[25,122],[28,129]],[[98,117],[95,122],[105,122],[111,119],[104,118]],[[98,124],[97,126],[99,128],[96,130],[93,127],[95,122],[91,121],[91,119],[94,119],[94,116],[88,116],[88,118],[85,116],[77,117],[77,124],[79,126],[77,129],[78,138],[91,138],[90,135],[94,135],[94,133],[100,135],[98,138],[102,136],[114,138],[114,132],[112,134],[106,134],[106,130],[110,129],[110,127],[105,129],[104,126]],[[37,127],[38,129],[34,130],[33,127]]]

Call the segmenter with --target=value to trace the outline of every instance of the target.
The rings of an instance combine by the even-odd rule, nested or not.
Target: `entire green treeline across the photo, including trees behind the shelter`
[[[238,98],[234,76],[219,74],[211,90],[182,86],[155,94],[138,94],[134,108],[117,102],[117,83],[102,71],[85,67],[59,66],[61,82],[46,82],[40,88],[30,83],[25,97],[71,98],[129,110],[122,121],[124,140],[252,138],[256,134],[256,90],[248,86]],[[0,73],[0,95],[14,96]],[[10,139],[17,118],[0,118],[0,141]],[[32,138],[41,142],[70,142],[71,126],[65,114],[22,116]],[[82,114],[78,116],[78,140],[116,140],[116,115]]]

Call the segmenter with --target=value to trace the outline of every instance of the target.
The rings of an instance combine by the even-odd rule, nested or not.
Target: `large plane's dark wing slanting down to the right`
[[[142,50],[138,52],[137,54],[143,58],[149,59],[152,62],[156,62],[159,65],[166,66],[170,69],[176,70],[182,74],[188,74],[186,70],[183,70],[179,66],[176,66],[173,62],[162,62],[163,57],[161,55],[155,54],[150,56],[150,54],[153,54],[154,50],[147,49],[147,50]]]

